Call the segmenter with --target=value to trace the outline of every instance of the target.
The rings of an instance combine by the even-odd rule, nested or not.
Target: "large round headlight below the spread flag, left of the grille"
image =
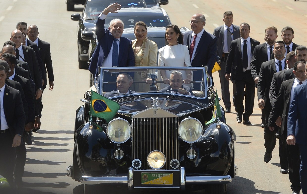
[[[131,125],[124,119],[113,119],[107,126],[107,136],[114,143],[124,143],[130,135]]]

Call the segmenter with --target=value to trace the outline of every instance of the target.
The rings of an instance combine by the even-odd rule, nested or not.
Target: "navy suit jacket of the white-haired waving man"
[[[98,73],[98,67],[101,67],[103,60],[107,58],[111,50],[114,36],[112,36],[110,30],[104,28],[105,20],[98,18],[96,23],[96,35],[98,44],[92,55],[92,60],[88,70],[94,75]],[[119,67],[134,67],[134,53],[132,50],[131,40],[120,37],[119,43]]]

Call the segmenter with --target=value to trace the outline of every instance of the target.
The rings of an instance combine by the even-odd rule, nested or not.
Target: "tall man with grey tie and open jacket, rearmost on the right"
[[[226,59],[230,51],[230,44],[232,40],[235,40],[240,37],[239,26],[233,25],[233,17],[231,11],[226,11],[223,14],[224,25],[214,29],[213,36],[217,38],[217,55],[221,59],[219,71],[220,83],[222,89],[222,99],[225,105],[225,113],[231,112],[231,102],[230,102],[230,93],[229,93],[229,82],[225,78],[225,67]],[[232,81],[232,80],[231,80]],[[233,81],[234,82],[234,81]],[[232,85],[233,94],[235,94],[235,84]],[[232,99],[233,101],[234,98]]]

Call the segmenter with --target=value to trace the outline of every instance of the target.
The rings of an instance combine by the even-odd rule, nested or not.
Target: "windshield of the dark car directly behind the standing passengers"
[[[163,27],[170,24],[167,16],[120,16],[120,17],[107,17],[104,27],[108,28],[110,25],[110,21],[116,18],[119,18],[124,22],[125,28],[134,27],[134,24],[138,21],[145,22],[147,26],[150,26],[151,24],[152,26],[155,27]]]

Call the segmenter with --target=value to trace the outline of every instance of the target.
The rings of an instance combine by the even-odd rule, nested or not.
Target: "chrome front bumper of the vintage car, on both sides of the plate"
[[[184,189],[185,184],[227,184],[232,181],[231,176],[185,176],[185,168],[180,167],[180,188]],[[103,176],[80,178],[82,184],[128,184],[128,188],[133,188],[133,168],[129,168],[128,176]]]

